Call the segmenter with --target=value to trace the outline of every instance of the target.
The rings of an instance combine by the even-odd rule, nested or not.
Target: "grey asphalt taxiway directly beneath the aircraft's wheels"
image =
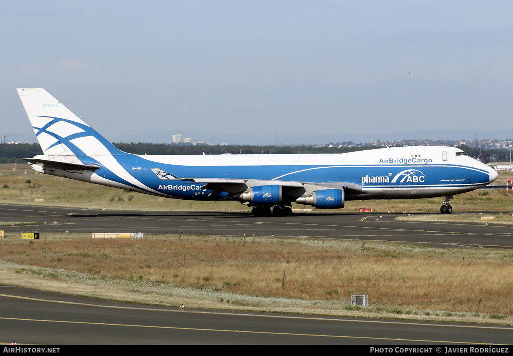
[[[455,213],[457,214],[457,213]],[[45,232],[143,232],[274,236],[411,242],[436,247],[513,247],[513,226],[470,223],[398,222],[397,213],[294,213],[254,217],[246,212],[113,211],[44,206],[0,205],[0,222],[37,222],[5,226],[6,234]],[[46,224],[45,224],[46,222]]]

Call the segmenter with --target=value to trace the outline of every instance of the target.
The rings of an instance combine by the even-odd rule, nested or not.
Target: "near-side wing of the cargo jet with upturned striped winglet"
[[[312,183],[312,182],[294,182],[294,181],[274,181],[274,180],[253,180],[253,179],[222,179],[222,178],[189,178],[189,177],[177,177],[171,173],[168,173],[162,169],[152,168],[161,180],[168,181],[187,181],[194,183],[205,183],[203,189],[213,190],[212,194],[226,191],[228,193],[238,193],[248,187],[260,186],[260,185],[279,185],[283,188],[303,188],[305,186],[314,186],[319,188],[333,188],[333,189],[344,189],[354,192],[361,192],[362,186],[356,183],[350,182],[326,182],[326,183]],[[306,187],[305,187],[306,188]]]

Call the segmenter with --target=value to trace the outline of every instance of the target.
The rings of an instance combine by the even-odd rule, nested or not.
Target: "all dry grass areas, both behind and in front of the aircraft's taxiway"
[[[30,169],[25,174],[27,167],[0,167],[1,202],[247,209],[233,202],[133,194]],[[456,196],[452,205],[455,211],[507,212],[511,199],[501,191],[477,191]],[[347,202],[344,210],[438,212],[442,200]],[[509,215],[503,216],[507,222]],[[92,240],[86,234],[48,234],[40,241],[1,239],[0,269],[0,283],[134,303],[513,324],[513,257],[500,249],[239,236],[145,234],[144,239]],[[368,294],[369,307],[350,306],[351,294]]]

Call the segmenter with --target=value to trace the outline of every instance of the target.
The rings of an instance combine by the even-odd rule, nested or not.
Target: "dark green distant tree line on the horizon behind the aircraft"
[[[281,153],[345,153],[374,149],[378,147],[316,147],[316,146],[192,146],[192,145],[169,145],[152,143],[114,143],[114,146],[124,152],[134,154],[281,154]],[[481,161],[509,162],[509,150],[507,149],[485,149],[458,146],[470,157],[478,157],[481,154]],[[22,162],[23,158],[43,154],[38,144],[0,144],[0,164]]]

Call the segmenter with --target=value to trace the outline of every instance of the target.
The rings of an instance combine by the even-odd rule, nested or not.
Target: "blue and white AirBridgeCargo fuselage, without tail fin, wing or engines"
[[[222,154],[78,156],[102,168],[91,174],[63,176],[91,183],[176,199],[216,200],[205,184],[163,181],[151,170],[177,177],[242,179],[315,184],[353,183],[361,191],[346,192],[346,200],[414,199],[464,193],[497,179],[497,172],[454,147],[415,146],[373,149],[341,154]],[[61,175],[61,174],[56,174]],[[82,179],[81,179],[82,178]]]

